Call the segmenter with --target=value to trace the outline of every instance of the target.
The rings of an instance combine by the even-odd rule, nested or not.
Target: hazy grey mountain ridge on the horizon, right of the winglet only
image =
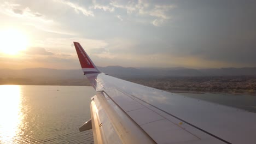
[[[124,68],[120,66],[99,67],[101,71],[113,76],[255,76],[256,68],[220,68],[220,69],[190,69],[175,68]]]

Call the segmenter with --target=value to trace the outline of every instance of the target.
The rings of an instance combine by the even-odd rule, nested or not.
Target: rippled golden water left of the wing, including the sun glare
[[[90,119],[92,87],[0,86],[0,143],[94,143]]]

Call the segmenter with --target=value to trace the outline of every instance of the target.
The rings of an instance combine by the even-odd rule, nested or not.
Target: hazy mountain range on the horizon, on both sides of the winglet
[[[166,76],[255,76],[256,68],[220,68],[220,69],[189,69],[189,68],[125,68],[120,66],[98,67],[100,71],[117,77],[166,77]],[[53,79],[81,79],[81,69],[0,69],[0,77]]]

